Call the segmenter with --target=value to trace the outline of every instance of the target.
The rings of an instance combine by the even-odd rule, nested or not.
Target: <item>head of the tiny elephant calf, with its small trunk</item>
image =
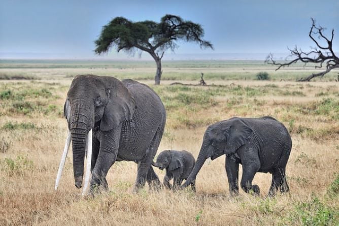
[[[152,163],[153,166],[160,170],[168,169],[168,171],[175,170],[183,165],[181,159],[175,157],[170,150],[162,151],[156,159],[156,163]]]

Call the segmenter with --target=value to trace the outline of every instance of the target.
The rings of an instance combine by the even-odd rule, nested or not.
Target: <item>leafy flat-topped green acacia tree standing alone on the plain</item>
[[[183,20],[179,16],[165,15],[160,23],[154,21],[131,22],[124,17],[116,17],[103,26],[100,37],[94,42],[96,54],[108,52],[115,47],[119,52],[133,54],[135,50],[148,52],[156,62],[157,71],[155,84],[160,84],[161,59],[167,49],[174,51],[179,40],[196,42],[200,48],[212,48],[213,45],[205,40],[204,29],[200,24]]]

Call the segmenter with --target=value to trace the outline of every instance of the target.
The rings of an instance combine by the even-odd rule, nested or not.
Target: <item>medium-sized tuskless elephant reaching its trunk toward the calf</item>
[[[285,169],[291,152],[292,140],[286,127],[275,118],[238,118],[210,125],[204,135],[196,164],[186,182],[195,180],[205,160],[226,154],[226,173],[231,195],[239,193],[239,164],[243,165],[241,187],[259,194],[258,185],[252,185],[256,172],[272,173],[268,194],[274,196],[278,188],[288,191]]]

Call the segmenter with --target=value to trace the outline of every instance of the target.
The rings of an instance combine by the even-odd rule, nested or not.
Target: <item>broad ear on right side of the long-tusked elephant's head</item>
[[[135,101],[126,88],[118,79],[111,81],[112,85],[106,90],[108,103],[100,122],[101,131],[109,131],[125,120],[132,119]]]

